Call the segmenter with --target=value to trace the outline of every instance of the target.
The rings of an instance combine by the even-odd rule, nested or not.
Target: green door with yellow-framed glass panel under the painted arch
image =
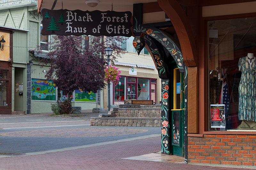
[[[173,97],[171,105],[172,155],[184,156],[184,76],[173,63]],[[171,81],[171,78],[170,78]]]

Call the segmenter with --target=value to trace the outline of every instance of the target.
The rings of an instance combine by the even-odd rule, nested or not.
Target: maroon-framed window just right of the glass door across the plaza
[[[149,79],[138,78],[138,100],[149,100]]]

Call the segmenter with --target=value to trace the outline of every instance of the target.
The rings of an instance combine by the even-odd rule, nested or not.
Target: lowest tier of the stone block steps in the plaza
[[[160,127],[160,118],[91,117],[91,126]]]

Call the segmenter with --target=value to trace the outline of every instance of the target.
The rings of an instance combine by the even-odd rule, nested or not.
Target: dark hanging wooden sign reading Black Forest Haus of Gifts
[[[130,11],[42,9],[41,14],[43,35],[132,36]]]

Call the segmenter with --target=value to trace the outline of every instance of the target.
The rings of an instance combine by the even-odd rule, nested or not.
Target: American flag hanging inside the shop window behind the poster
[[[221,69],[221,74],[223,75],[223,81],[221,86],[219,104],[225,105],[226,129],[232,129],[231,115],[228,112],[229,106],[230,106],[230,95],[228,90],[227,72],[228,72],[228,69]]]

